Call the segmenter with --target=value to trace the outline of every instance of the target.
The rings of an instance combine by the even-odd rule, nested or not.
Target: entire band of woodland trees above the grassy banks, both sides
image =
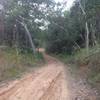
[[[66,11],[65,2],[2,0],[0,44],[33,48],[33,52],[44,45],[48,52],[55,53],[88,50],[99,44],[99,6],[99,0],[76,0]]]

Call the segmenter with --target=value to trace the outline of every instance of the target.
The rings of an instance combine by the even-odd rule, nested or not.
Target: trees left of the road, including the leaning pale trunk
[[[39,37],[42,33],[40,27],[44,26],[43,20],[46,19],[48,10],[54,6],[54,2],[52,0],[5,0],[1,5],[4,11],[4,14],[0,14],[1,20],[4,19],[0,21],[0,25],[4,25],[4,28],[1,28],[4,29],[4,41],[1,38],[1,44],[22,49],[32,47],[35,52],[36,40],[38,42],[42,40]]]

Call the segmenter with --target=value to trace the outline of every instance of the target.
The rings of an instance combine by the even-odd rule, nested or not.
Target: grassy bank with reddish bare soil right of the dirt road
[[[59,54],[57,58],[69,64],[72,73],[80,73],[84,76],[91,86],[100,90],[100,47],[96,46],[89,49],[81,49],[73,55]]]

